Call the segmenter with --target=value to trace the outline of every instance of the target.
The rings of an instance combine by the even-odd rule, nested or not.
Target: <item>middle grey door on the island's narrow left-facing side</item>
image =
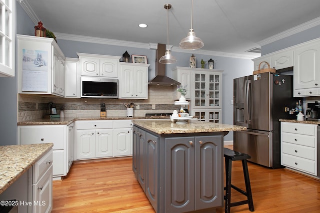
[[[138,132],[138,182],[145,193],[145,141],[146,132],[139,129]]]

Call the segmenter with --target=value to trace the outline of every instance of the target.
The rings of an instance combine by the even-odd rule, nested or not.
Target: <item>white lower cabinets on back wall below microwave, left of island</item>
[[[76,160],[132,155],[131,120],[76,121]]]

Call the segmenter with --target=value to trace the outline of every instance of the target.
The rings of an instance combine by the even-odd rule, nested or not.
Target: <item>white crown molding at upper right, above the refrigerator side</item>
[[[319,25],[319,24],[320,24],[320,17],[317,17],[317,18],[314,18],[314,19],[312,19],[312,20],[310,20],[310,21],[307,21],[307,22],[305,22],[305,23],[302,23],[302,24],[300,24],[300,25],[297,25],[297,26],[295,26],[295,27],[292,27],[292,28],[290,28],[290,29],[288,29],[288,30],[285,30],[285,31],[283,31],[283,32],[280,32],[280,33],[278,33],[278,34],[275,34],[275,35],[273,35],[273,36],[270,36],[270,37],[268,37],[268,38],[266,38],[266,39],[263,39],[263,40],[261,40],[261,41],[259,41],[259,42],[257,42],[257,43],[258,43],[260,46],[263,46],[263,45],[272,43],[272,42],[274,42],[274,41],[280,40],[280,39],[282,39],[282,38],[288,37],[288,36],[290,36],[290,35],[294,35],[294,34],[296,34],[296,33],[298,33],[298,32],[302,32],[302,31],[304,31],[304,30],[306,30],[306,29],[312,28],[312,27],[317,26],[317,25]]]

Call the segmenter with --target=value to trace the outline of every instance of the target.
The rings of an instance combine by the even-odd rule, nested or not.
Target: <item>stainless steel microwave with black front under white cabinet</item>
[[[118,79],[81,77],[82,98],[117,98]]]

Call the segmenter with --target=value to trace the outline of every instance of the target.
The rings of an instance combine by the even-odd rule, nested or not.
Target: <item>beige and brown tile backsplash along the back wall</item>
[[[18,95],[18,122],[42,118],[48,102],[53,102],[57,113],[63,107],[65,117],[99,117],[100,103],[105,103],[107,117],[125,117],[123,104],[134,103],[134,117],[145,113],[172,113],[180,106],[174,105],[176,87],[149,87],[148,99],[109,99],[109,98],[60,98],[53,95]],[[155,109],[152,109],[152,105]],[[137,109],[138,108],[138,109]]]

